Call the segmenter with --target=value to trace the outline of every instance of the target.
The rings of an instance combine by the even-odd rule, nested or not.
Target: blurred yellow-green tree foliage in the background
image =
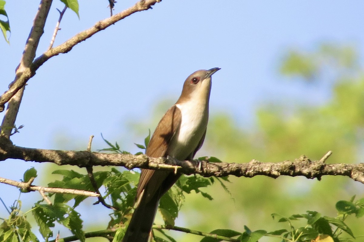
[[[312,86],[325,82],[329,93],[326,101],[317,105],[302,104],[304,102],[300,100],[311,98],[307,92],[283,102],[270,100],[257,108],[253,125],[240,124],[229,113],[210,113],[205,143],[196,157],[215,156],[224,162],[238,163],[253,159],[280,162],[304,154],[312,160],[319,160],[332,150],[328,163],[361,162],[364,153],[364,69],[355,49],[331,44],[321,44],[312,51],[289,49],[283,53],[277,67],[282,81],[288,80],[286,85],[290,85],[290,81]],[[172,98],[162,100],[152,110],[151,117],[142,122],[130,117],[127,124],[130,140],[138,143],[147,135],[148,129],[153,132],[174,101]],[[68,148],[68,142],[62,140],[68,139],[58,139],[58,146]],[[118,143],[125,144],[126,141]],[[49,169],[59,167],[49,165]],[[104,169],[107,168],[95,168],[95,171]],[[54,177],[45,179],[52,181]],[[199,194],[187,195],[175,225],[205,232],[214,229],[244,231],[244,225],[252,230],[276,230],[282,229],[282,225],[272,219],[272,213],[289,216],[313,210],[335,217],[337,201],[348,200],[355,194],[357,198],[363,197],[363,184],[347,177],[324,176],[321,181],[302,177],[275,180],[229,177],[229,180],[226,186],[231,195],[218,184],[202,189],[212,195],[213,201]],[[91,204],[88,202],[87,206]],[[106,209],[103,212],[107,214]],[[105,215],[105,221],[107,219]],[[160,215],[157,214],[155,222],[163,224]],[[364,235],[363,222],[363,218],[347,219],[356,236]],[[105,224],[84,218],[86,231],[104,229]],[[197,235],[170,233],[181,242],[201,239]],[[269,241],[273,239],[269,238]],[[357,241],[364,239],[359,237]]]

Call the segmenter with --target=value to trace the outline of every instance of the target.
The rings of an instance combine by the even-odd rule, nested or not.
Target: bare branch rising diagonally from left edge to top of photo
[[[44,0],[44,1],[46,1],[46,0]],[[48,0],[48,1],[51,1],[51,0]],[[106,29],[110,25],[115,24],[116,22],[132,15],[133,13],[150,9],[151,6],[153,6],[156,3],[159,3],[160,1],[161,0],[138,1],[134,6],[128,8],[120,13],[117,13],[107,19],[100,20],[90,29],[82,31],[82,32],[76,34],[71,39],[64,42],[63,44],[60,44],[57,47],[54,47],[54,48],[44,52],[43,55],[41,55],[37,59],[35,59],[32,64],[26,65],[25,68],[21,68],[21,72],[20,71],[19,71],[19,73],[17,72],[15,80],[11,83],[9,89],[6,92],[4,92],[3,95],[0,96],[0,112],[3,112],[5,103],[7,103],[10,100],[10,98],[13,97],[18,92],[18,90],[20,90],[21,88],[24,87],[24,85],[27,83],[27,81],[32,76],[35,75],[36,70],[41,65],[43,65],[43,63],[46,62],[48,59],[50,59],[51,57],[54,57],[56,55],[59,55],[60,53],[67,53],[76,44],[90,38],[95,33],[98,33],[100,31],[102,31],[103,29]],[[48,12],[47,12],[47,14],[48,14]],[[44,18],[44,20],[45,20],[45,18]],[[43,28],[39,32],[43,33]],[[15,122],[15,119],[14,119],[14,122]],[[6,122],[6,124],[10,123],[11,125],[4,125],[4,122],[3,122],[3,125],[1,125],[1,126],[2,127],[12,127],[14,122],[12,122],[12,121]]]

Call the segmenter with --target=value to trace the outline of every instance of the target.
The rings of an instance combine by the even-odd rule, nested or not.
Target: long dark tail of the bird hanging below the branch
[[[142,195],[122,242],[148,242],[159,197],[159,193],[155,193],[151,199],[147,199],[146,194]]]

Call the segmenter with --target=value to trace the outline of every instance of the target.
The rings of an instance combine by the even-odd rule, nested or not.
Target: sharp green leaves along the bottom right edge
[[[338,217],[323,216],[317,211],[307,211],[304,214],[293,214],[289,217],[284,217],[280,214],[273,213],[272,218],[278,219],[278,223],[288,224],[289,229],[279,229],[267,232],[266,230],[252,231],[247,226],[244,226],[244,232],[238,232],[230,229],[217,229],[201,239],[201,242],[218,242],[223,241],[219,235],[228,238],[236,238],[236,241],[241,242],[257,242],[263,236],[275,237],[286,242],[311,242],[317,238],[331,237],[331,241],[335,242],[350,242],[351,239],[341,237],[343,233],[355,239],[351,229],[345,224],[344,220],[351,214],[358,214],[364,208],[364,199],[353,201],[339,201],[336,203]],[[305,226],[300,226],[300,220],[305,220]],[[296,226],[296,223],[298,226]],[[284,226],[284,225],[283,225]],[[233,240],[235,241],[235,240]],[[323,241],[318,239],[318,241]]]

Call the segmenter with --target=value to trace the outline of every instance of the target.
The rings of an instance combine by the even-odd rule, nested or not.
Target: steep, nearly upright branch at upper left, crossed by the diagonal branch
[[[28,76],[30,78],[35,74],[35,70],[33,72],[30,70],[32,69],[31,66],[35,58],[35,52],[38,47],[39,39],[43,34],[44,24],[46,23],[51,3],[52,0],[40,1],[38,12],[34,18],[33,26],[29,33],[27,43],[25,44],[23,56],[21,56],[20,64],[18,65],[15,72],[15,80],[9,85],[9,90],[0,97],[0,111],[4,110],[4,101],[9,101],[3,122],[1,124],[1,135],[8,138],[10,136],[12,127],[15,124],[26,83],[19,82],[18,80],[22,76]]]

